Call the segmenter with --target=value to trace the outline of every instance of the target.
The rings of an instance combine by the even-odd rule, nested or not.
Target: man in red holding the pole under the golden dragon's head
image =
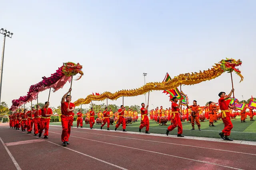
[[[233,128],[232,122],[230,120],[230,109],[235,109],[236,106],[230,106],[229,103],[226,101],[226,99],[230,98],[232,92],[234,92],[234,89],[231,90],[231,92],[226,96],[225,92],[220,92],[218,96],[219,99],[219,106],[221,110],[221,119],[224,123],[224,129],[222,132],[219,133],[220,137],[227,141],[233,141],[233,139],[229,139],[228,136],[230,136],[230,132]]]

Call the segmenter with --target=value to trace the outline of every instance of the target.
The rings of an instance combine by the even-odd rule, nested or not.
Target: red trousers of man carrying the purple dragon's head
[[[74,119],[72,116],[61,115],[61,125],[62,125],[61,141],[62,142],[66,142],[69,139],[73,120]]]

